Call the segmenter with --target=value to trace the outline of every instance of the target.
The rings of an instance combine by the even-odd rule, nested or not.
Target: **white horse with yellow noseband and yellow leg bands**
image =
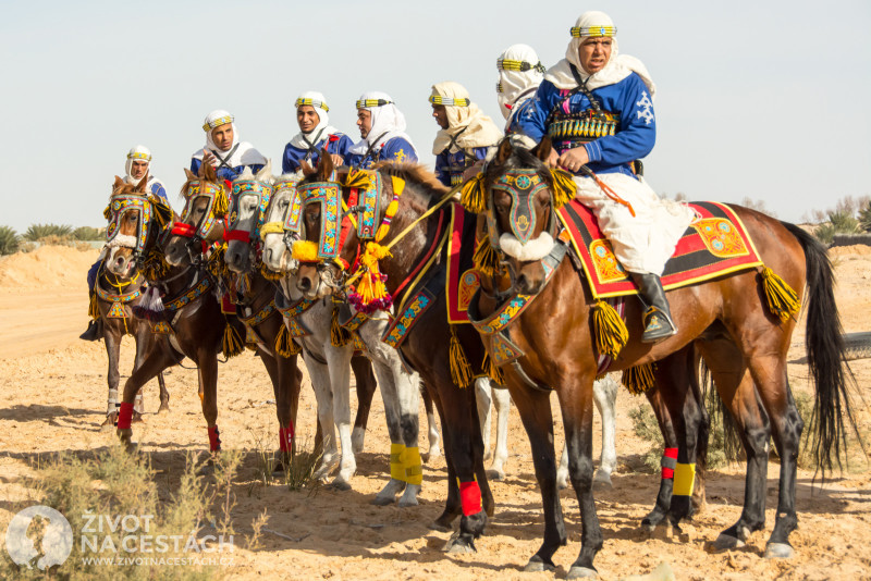
[[[296,288],[295,261],[289,250],[292,237],[290,231],[285,232],[279,226],[285,224],[289,210],[297,203],[293,185],[294,180],[289,176],[282,176],[275,183],[261,238],[263,264],[273,272],[284,273],[279,283],[281,294],[277,295],[277,300],[297,304],[303,299],[303,294]],[[338,308],[330,299],[321,298],[312,301],[294,321],[286,322],[295,335],[294,341],[303,347],[303,358],[318,403],[318,421],[323,433],[323,457],[318,475],[326,477],[338,461],[339,473],[332,485],[347,490],[357,469],[354,454],[363,448],[365,434],[356,429],[353,434],[351,432],[349,362],[355,347],[353,342],[343,346],[333,345],[331,327],[333,310]],[[353,310],[349,314],[354,314]],[[405,371],[396,350],[381,342],[387,325],[387,313],[378,313],[358,326],[356,333],[365,346],[366,356],[372,361],[381,387],[391,440],[391,479],[372,502],[377,505],[393,503],[404,490],[398,502],[398,506],[404,507],[418,504],[417,495],[422,482],[418,450],[420,382],[416,373]],[[300,329],[307,334],[296,336]],[[336,446],[334,427],[339,429],[341,453]],[[434,450],[430,447],[431,457],[433,452],[434,455],[439,454],[438,441],[434,444]]]

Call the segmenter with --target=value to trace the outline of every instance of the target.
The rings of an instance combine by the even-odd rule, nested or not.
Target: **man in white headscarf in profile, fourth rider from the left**
[[[405,115],[387,92],[369,91],[360,96],[357,127],[361,139],[348,150],[347,165],[367,170],[378,161],[417,161],[417,149],[405,133]]]

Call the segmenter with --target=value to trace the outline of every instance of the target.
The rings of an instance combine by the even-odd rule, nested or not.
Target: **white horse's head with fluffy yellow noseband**
[[[296,177],[282,176],[272,186],[272,198],[260,226],[263,267],[272,273],[292,273],[299,261],[291,257],[291,247],[299,239],[303,206],[296,193]]]

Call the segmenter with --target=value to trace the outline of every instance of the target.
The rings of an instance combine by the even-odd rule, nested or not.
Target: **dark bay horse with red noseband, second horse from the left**
[[[176,220],[171,210],[164,207],[170,212],[165,219],[140,221],[139,224],[130,226],[138,227],[144,233],[140,234],[140,248],[135,251],[125,248],[119,250],[125,260],[138,264],[149,283],[149,292],[144,307],[139,309],[140,313],[156,321],[164,333],[162,341],[124,384],[118,435],[128,446],[133,436],[130,416],[134,394],[159,371],[180,362],[186,356],[197,366],[209,452],[214,454],[221,449],[217,424],[218,354],[223,351],[225,356],[231,356],[240,353],[242,345],[238,337],[245,330],[235,317],[223,313],[216,296],[216,277],[209,272],[208,264],[199,258],[204,247],[210,247],[223,235],[223,224],[214,215],[214,206],[216,202],[221,206],[225,199],[224,186],[217,182],[214,170],[208,164],[204,166],[206,170],[203,178],[187,171],[187,182],[182,186],[186,200],[184,213],[195,226]],[[173,223],[170,224],[170,221]],[[177,238],[184,235],[195,240],[198,250],[196,262],[183,265],[170,263],[164,249],[168,244],[164,238],[168,235],[171,236],[170,242],[173,236]]]

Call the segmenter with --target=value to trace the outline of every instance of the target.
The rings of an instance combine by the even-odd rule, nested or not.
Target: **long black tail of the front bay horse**
[[[834,269],[829,254],[803,230],[786,222],[782,224],[805,251],[808,314],[805,344],[810,376],[817,385],[809,430],[813,434],[814,463],[824,474],[826,469],[832,469],[833,455],[838,468],[842,466],[842,448],[846,452],[844,416],[858,433],[847,392],[852,372],[844,359],[843,327],[835,304]]]

